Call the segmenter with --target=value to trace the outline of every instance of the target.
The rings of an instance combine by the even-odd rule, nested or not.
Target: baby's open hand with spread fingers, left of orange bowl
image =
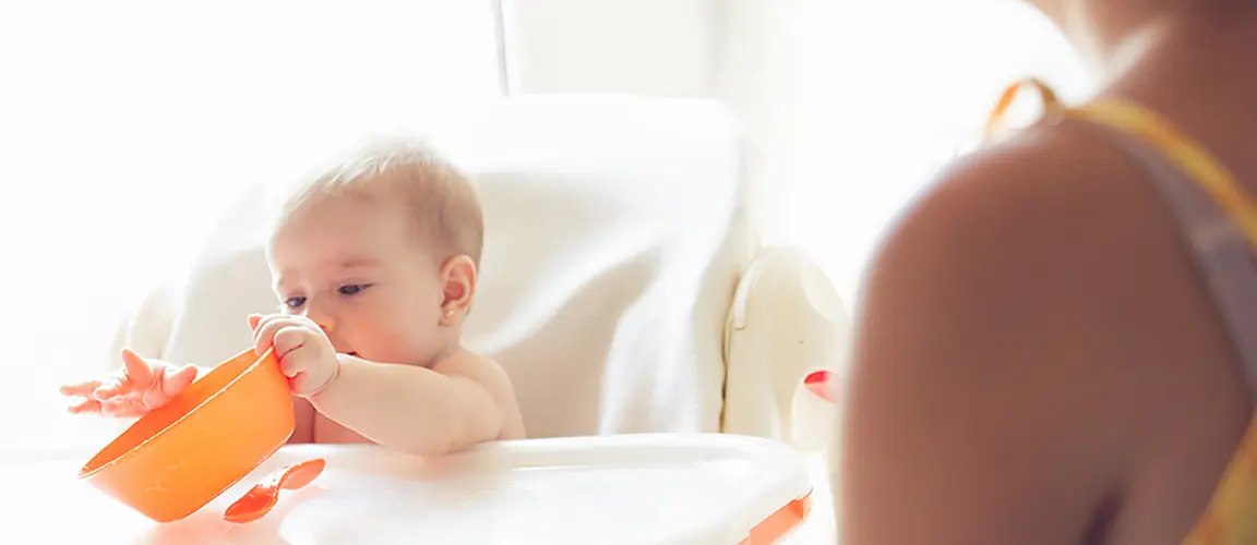
[[[63,386],[63,396],[83,398],[69,411],[138,417],[170,403],[196,379],[196,367],[180,369],[162,362],[150,363],[129,348],[122,350],[122,373],[114,377]]]

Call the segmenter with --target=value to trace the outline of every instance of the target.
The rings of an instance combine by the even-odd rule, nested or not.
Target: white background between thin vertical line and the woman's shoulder
[[[1008,0],[504,1],[513,92],[725,102],[764,241],[811,252],[852,304],[881,232],[1006,83],[1090,90],[1060,34]]]

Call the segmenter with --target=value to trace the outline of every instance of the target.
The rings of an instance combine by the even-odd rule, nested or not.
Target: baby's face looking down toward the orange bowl
[[[440,326],[440,264],[401,205],[329,198],[279,226],[268,260],[280,310],[327,332],[338,353],[425,364],[449,340]]]

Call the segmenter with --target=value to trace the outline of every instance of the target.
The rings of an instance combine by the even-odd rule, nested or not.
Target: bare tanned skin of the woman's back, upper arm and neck
[[[1156,41],[1111,92],[1257,193],[1257,4],[1234,5],[1131,18]],[[1208,219],[1177,213],[1139,149],[1046,123],[958,165],[890,235],[859,325],[843,542],[1177,545],[1193,529],[1252,399],[1184,236]]]

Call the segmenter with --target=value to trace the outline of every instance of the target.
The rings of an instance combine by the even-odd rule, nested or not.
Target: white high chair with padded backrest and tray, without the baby
[[[538,97],[458,112],[447,124],[424,123],[427,137],[478,181],[486,240],[465,344],[510,374],[529,434],[519,445],[459,456],[495,461],[484,467],[554,468],[497,477],[512,483],[509,491],[529,490],[528,497],[499,499],[478,511],[510,532],[425,519],[378,530],[371,540],[424,531],[476,542],[535,535],[549,542],[758,545],[797,521],[816,476],[804,472],[797,451],[739,436],[823,451],[833,408],[802,383],[815,370],[841,372],[846,310],[803,255],[758,246],[743,202],[743,144],[725,111],[701,100]],[[250,343],[244,316],[275,308],[261,250],[274,206],[268,190],[258,185],[241,198],[189,274],[136,308],[114,348],[206,364]],[[724,434],[694,434],[701,432]],[[349,531],[365,517],[375,517],[376,531],[390,519],[373,510],[387,506],[353,504],[365,482],[376,482],[377,492],[386,486],[410,494],[397,500],[407,505],[430,501],[406,487],[412,471],[398,470],[390,481],[362,473],[376,465],[406,467],[385,460],[392,455],[327,446],[285,451],[293,448],[313,448],[346,468],[332,477],[337,491],[328,499],[297,507],[303,526],[280,531],[284,539],[337,524]],[[466,501],[481,494],[441,486]],[[623,491],[637,499],[608,496]],[[344,505],[362,515],[344,515]],[[546,505],[588,512],[559,516]],[[620,515],[600,517],[606,509]],[[212,514],[197,520],[181,531],[205,535],[222,524]],[[554,534],[559,526],[562,536]],[[353,535],[366,535],[356,527]],[[591,541],[600,532],[606,540]]]

